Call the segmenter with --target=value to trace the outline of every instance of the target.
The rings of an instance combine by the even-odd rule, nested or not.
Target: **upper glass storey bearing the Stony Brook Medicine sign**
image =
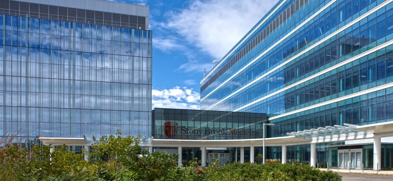
[[[266,123],[266,114],[214,110],[155,108],[152,117],[157,139],[262,138]]]

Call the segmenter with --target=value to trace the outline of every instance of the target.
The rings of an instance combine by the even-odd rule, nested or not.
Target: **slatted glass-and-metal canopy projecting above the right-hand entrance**
[[[355,125],[344,124],[320,127],[318,129],[303,130],[297,132],[286,133],[288,136],[295,136],[298,138],[308,139],[314,143],[320,143],[325,141],[341,141],[348,140],[349,138],[364,139],[372,138],[373,133],[358,130]]]

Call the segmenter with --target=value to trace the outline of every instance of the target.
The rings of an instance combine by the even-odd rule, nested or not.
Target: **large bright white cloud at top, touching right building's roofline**
[[[169,13],[165,26],[221,59],[276,3],[277,0],[195,0],[189,7]]]

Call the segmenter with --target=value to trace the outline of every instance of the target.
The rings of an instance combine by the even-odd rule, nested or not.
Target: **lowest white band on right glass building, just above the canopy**
[[[342,96],[340,98],[335,98],[335,99],[332,99],[332,100],[329,100],[329,101],[325,101],[325,102],[321,102],[321,103],[318,103],[318,104],[310,105],[308,107],[303,107],[303,108],[298,109],[298,110],[286,112],[284,114],[280,114],[278,116],[273,116],[271,118],[268,118],[268,120],[281,118],[281,117],[288,116],[288,115],[291,115],[291,114],[295,114],[295,113],[298,113],[298,112],[302,112],[302,111],[305,111],[305,110],[313,109],[313,108],[316,108],[316,107],[321,107],[323,105],[328,105],[328,104],[335,103],[335,102],[338,102],[338,101],[343,101],[343,100],[346,100],[346,99],[349,99],[349,98],[354,98],[356,96],[361,96],[361,95],[368,94],[368,93],[371,93],[371,92],[375,92],[375,91],[378,91],[378,90],[386,89],[386,88],[389,88],[389,87],[393,87],[393,82],[386,83],[384,85],[380,85],[380,86],[373,87],[373,88],[370,88],[370,89],[362,90],[362,91],[359,91],[359,92],[356,92],[356,93],[353,93],[353,94],[349,94],[349,95],[346,95],[346,96]]]

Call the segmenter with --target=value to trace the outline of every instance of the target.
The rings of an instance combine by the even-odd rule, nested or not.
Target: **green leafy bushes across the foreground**
[[[0,141],[0,180],[20,181],[340,181],[332,171],[320,171],[300,163],[230,163],[199,167],[198,159],[178,167],[178,154],[148,153],[138,145],[140,137],[105,136],[92,146],[90,159],[64,145],[50,153],[51,145],[22,148],[15,135]]]

